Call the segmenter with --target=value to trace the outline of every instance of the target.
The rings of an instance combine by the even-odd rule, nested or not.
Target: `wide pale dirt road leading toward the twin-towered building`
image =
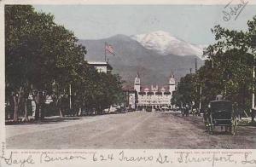
[[[255,127],[208,135],[201,117],[129,112],[51,124],[6,126],[8,148],[256,148]]]

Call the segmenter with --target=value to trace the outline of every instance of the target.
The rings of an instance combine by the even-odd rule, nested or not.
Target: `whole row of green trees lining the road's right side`
[[[241,110],[252,108],[255,88],[256,16],[247,22],[246,32],[215,26],[212,33],[216,43],[204,50],[204,66],[181,78],[172,103],[204,110],[217,95],[236,102]]]

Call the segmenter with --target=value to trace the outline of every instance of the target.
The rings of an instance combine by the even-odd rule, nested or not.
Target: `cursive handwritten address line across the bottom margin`
[[[236,156],[232,153],[218,154],[218,153],[207,153],[205,155],[196,155],[194,153],[177,153],[177,156],[168,155],[166,153],[154,153],[152,155],[131,156],[125,151],[119,151],[119,153],[90,153],[90,154],[68,154],[57,156],[53,153],[40,153],[39,156],[35,154],[27,154],[26,158],[19,158],[18,155],[11,152],[9,154],[2,153],[1,162],[9,166],[37,166],[37,164],[50,164],[55,162],[75,162],[83,161],[98,163],[98,162],[117,162],[121,163],[156,163],[156,164],[201,164],[206,163],[207,166],[216,166],[218,163],[224,164],[255,164],[256,158],[253,158],[250,153],[241,154],[241,159],[237,160]],[[236,165],[234,165],[236,166]],[[241,166],[241,165],[240,165]]]

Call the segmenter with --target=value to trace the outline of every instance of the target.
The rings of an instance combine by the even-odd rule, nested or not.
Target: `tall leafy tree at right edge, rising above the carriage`
[[[218,89],[213,95],[222,93],[227,100],[236,101],[241,107],[248,109],[251,101],[252,87],[254,85],[252,79],[253,55],[252,48],[252,32],[253,24],[255,25],[255,17],[253,21],[248,21],[248,32],[238,32],[234,30],[224,29],[215,26],[212,29],[217,43],[210,45],[204,52],[209,58],[204,69],[201,69],[201,79],[209,78],[209,74],[205,75],[212,66]],[[251,25],[251,26],[250,26]],[[255,29],[255,26],[254,26]],[[212,62],[212,63],[211,63]],[[211,65],[212,64],[212,65]],[[207,86],[207,89],[211,87]],[[207,102],[209,99],[207,99]]]

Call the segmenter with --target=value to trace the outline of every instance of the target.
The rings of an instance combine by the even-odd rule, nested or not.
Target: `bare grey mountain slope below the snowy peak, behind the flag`
[[[99,40],[79,40],[88,50],[85,60],[103,61],[105,42],[111,43],[116,51],[115,56],[108,55],[109,64],[113,66],[113,72],[119,73],[126,84],[134,82],[137,72],[140,73],[143,84],[166,84],[171,71],[179,80],[189,72],[189,68],[195,69],[195,58],[198,59],[198,66],[203,64],[196,55],[160,55],[125,35]]]

